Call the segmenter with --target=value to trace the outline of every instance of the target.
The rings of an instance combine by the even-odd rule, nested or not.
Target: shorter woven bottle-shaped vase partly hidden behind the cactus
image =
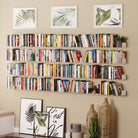
[[[97,115],[95,109],[94,109],[94,104],[90,105],[90,109],[87,113],[87,117],[86,117],[86,128],[85,128],[85,134],[89,135],[89,129],[91,127],[91,119],[95,118],[95,116]]]

